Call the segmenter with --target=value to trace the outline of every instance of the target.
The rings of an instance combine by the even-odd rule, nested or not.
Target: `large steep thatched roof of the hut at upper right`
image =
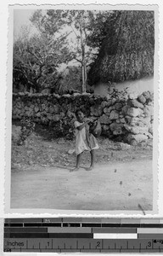
[[[155,17],[153,11],[120,11],[108,26],[88,83],[121,82],[154,73]]]

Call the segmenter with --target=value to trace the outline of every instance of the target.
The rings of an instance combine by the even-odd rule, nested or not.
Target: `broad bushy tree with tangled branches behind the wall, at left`
[[[53,88],[58,79],[57,68],[72,57],[67,48],[67,35],[40,31],[31,38],[23,36],[14,42],[14,84],[25,84],[27,90],[32,88],[36,92]]]

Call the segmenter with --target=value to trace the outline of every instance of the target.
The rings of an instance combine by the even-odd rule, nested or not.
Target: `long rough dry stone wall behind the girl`
[[[76,109],[82,108],[87,117],[99,119],[102,135],[134,144],[153,137],[153,102],[149,91],[137,98],[19,93],[13,95],[13,119],[29,117],[53,127],[56,136],[69,137],[74,132]]]

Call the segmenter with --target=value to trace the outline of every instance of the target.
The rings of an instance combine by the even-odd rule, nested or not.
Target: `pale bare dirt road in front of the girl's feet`
[[[93,171],[30,166],[12,172],[12,208],[152,210],[152,160],[97,165]]]

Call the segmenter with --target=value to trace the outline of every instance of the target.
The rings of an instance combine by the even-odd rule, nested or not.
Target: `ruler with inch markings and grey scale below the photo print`
[[[163,218],[6,218],[3,251],[163,253]]]

